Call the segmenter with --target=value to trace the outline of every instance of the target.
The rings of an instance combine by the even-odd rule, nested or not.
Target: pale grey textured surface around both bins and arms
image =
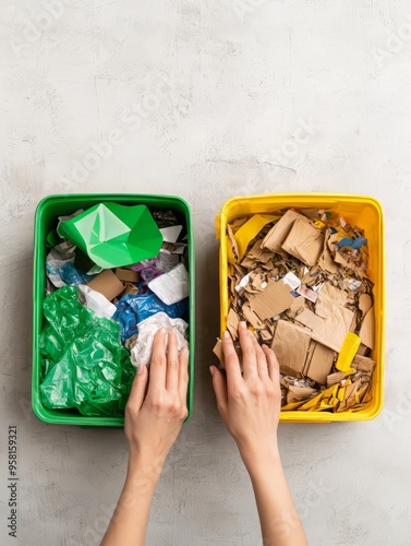
[[[147,544],[249,546],[261,544],[252,489],[208,377],[215,216],[238,194],[344,191],[373,194],[386,211],[386,410],[370,423],[282,425],[281,452],[311,544],[409,545],[409,3],[2,0],[0,23],[0,543],[97,544],[126,461],[121,430],[48,426],[29,411],[37,202],[148,191],[192,205],[195,406],[158,485]],[[108,135],[112,150],[93,162]],[[11,424],[20,517],[9,542]]]

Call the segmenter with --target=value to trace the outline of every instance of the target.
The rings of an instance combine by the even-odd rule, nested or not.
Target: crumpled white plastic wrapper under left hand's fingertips
[[[166,332],[169,332],[172,328],[174,329],[179,352],[184,347],[189,347],[189,343],[184,337],[189,324],[183,319],[170,319],[165,312],[158,312],[138,323],[137,341],[131,349],[131,363],[134,366],[149,364],[154,337],[161,328],[164,328]]]

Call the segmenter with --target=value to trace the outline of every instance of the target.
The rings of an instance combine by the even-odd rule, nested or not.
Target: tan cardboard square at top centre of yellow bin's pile
[[[307,223],[306,218],[298,218],[281,248],[294,258],[313,266],[317,263],[324,250],[324,234]]]

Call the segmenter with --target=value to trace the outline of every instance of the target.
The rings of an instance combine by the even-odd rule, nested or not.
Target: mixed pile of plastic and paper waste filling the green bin
[[[186,241],[172,211],[145,205],[106,202],[58,218],[39,339],[46,407],[120,415],[156,332],[173,328],[188,346]]]

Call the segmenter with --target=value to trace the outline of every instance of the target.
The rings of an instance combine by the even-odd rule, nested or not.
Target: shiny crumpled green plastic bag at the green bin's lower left
[[[88,416],[124,412],[135,368],[120,342],[120,325],[96,317],[74,286],[45,298],[39,337],[40,396],[49,408],[77,408]]]

